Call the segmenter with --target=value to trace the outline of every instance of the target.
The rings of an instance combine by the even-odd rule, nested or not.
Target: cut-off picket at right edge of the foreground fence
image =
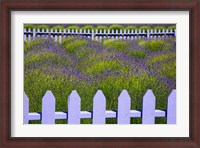
[[[167,124],[176,124],[176,90],[172,90],[168,97]]]

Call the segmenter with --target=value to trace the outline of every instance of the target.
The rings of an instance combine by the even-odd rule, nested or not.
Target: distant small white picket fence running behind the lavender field
[[[90,38],[91,40],[102,41],[102,39],[123,39],[123,40],[133,40],[137,38],[164,38],[176,36],[176,30],[49,30],[49,29],[33,29],[31,30],[24,28],[24,40],[32,39],[38,37],[47,37],[52,38],[56,42],[62,42],[63,39],[66,39],[68,36],[83,36]]]

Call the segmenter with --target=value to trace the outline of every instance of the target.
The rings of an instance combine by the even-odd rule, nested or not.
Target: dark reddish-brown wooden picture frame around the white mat
[[[3,0],[0,48],[0,147],[152,147],[200,148],[199,0]],[[11,137],[11,11],[107,10],[189,11],[190,13],[190,131],[187,138],[13,138]]]

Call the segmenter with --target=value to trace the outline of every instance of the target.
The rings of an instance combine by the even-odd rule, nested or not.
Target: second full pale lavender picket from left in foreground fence
[[[68,97],[68,124],[80,124],[81,98],[76,90]]]

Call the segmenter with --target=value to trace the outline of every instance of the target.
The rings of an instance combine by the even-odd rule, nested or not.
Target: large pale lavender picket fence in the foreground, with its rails
[[[164,99],[164,98],[163,98]],[[118,110],[106,110],[106,98],[98,90],[93,98],[93,111],[81,111],[81,98],[73,90],[68,97],[68,112],[55,111],[55,97],[47,91],[42,99],[42,112],[29,113],[29,100],[24,93],[24,124],[41,120],[42,124],[55,124],[56,119],[65,119],[68,124],[80,124],[80,119],[92,118],[93,124],[105,124],[106,118],[117,118],[118,124],[130,124],[130,118],[142,118],[142,124],[154,124],[155,117],[166,117],[167,124],[176,124],[176,90],[168,96],[167,110],[155,109],[156,98],[151,90],[143,96],[142,110],[131,110],[131,98],[126,90],[118,97]]]

